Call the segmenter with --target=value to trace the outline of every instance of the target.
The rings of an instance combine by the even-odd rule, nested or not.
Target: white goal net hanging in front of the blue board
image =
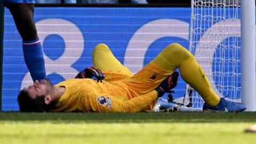
[[[191,0],[190,52],[220,97],[241,101],[240,5],[238,0]],[[193,107],[202,107],[196,92]]]

